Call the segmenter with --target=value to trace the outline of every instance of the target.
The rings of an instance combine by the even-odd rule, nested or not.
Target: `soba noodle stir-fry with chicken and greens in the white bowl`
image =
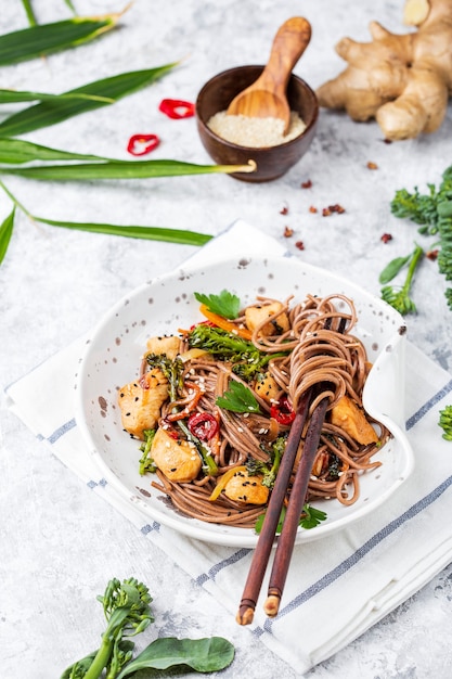
[[[301,399],[309,394],[312,414],[327,396],[306,503],[356,502],[360,476],[380,464],[372,457],[389,433],[362,407],[371,366],[353,334],[352,300],[257,297],[221,315],[196,297],[207,320],[150,338],[139,379],[119,389],[124,427],[142,440],[141,473],[151,472],[176,511],[250,528],[266,510]],[[302,447],[304,435],[293,473]]]

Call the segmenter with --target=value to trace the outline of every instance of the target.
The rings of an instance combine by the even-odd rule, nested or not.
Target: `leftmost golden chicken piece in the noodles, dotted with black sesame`
[[[156,427],[167,398],[168,380],[158,368],[146,372],[140,381],[130,382],[120,388],[118,403],[126,432],[142,439],[144,430]]]

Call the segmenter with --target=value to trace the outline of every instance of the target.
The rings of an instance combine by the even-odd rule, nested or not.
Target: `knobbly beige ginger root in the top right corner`
[[[371,22],[372,42],[340,40],[348,66],[317,91],[323,107],[376,118],[388,140],[437,130],[452,94],[452,0],[406,0],[404,22],[417,30],[396,35]]]

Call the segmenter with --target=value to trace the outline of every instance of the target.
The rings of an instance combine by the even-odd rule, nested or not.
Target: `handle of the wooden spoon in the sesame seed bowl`
[[[311,39],[311,25],[301,16],[288,18],[276,33],[270,59],[258,78],[262,89],[285,94],[290,73]]]

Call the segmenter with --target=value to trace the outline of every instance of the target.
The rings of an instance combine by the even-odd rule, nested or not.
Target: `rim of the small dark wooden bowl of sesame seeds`
[[[195,102],[195,116],[196,116],[196,120],[198,126],[201,125],[204,129],[204,131],[211,137],[212,139],[215,139],[216,141],[225,144],[227,146],[231,148],[231,149],[237,149],[237,150],[244,150],[244,151],[251,151],[254,153],[259,152],[259,153],[266,153],[266,152],[273,152],[276,149],[286,149],[290,145],[294,145],[296,142],[299,142],[301,138],[307,137],[308,133],[315,127],[318,119],[319,119],[319,111],[320,111],[320,105],[319,105],[319,100],[318,97],[315,94],[315,91],[311,88],[311,86],[300,76],[297,76],[295,73],[290,73],[290,76],[288,78],[287,81],[287,87],[288,87],[288,82],[290,81],[290,79],[296,80],[297,82],[301,84],[304,87],[307,88],[307,90],[309,91],[309,93],[312,95],[312,100],[313,100],[313,112],[312,112],[312,119],[309,123],[309,125],[306,126],[306,128],[304,129],[304,131],[300,134],[297,134],[297,137],[295,137],[294,139],[290,139],[289,141],[285,141],[281,144],[276,144],[273,146],[242,146],[241,144],[236,144],[232,141],[229,141],[228,139],[223,139],[223,137],[220,137],[219,134],[216,134],[216,132],[214,132],[207,125],[207,123],[204,120],[204,118],[201,117],[199,115],[199,99],[205,94],[205,90],[207,89],[207,87],[209,85],[211,85],[211,82],[214,80],[216,80],[217,78],[221,78],[222,76],[225,76],[228,74],[231,74],[233,72],[237,73],[240,71],[245,71],[247,68],[260,68],[261,71],[263,71],[266,66],[262,64],[247,64],[247,65],[243,65],[243,66],[233,66],[232,68],[227,68],[225,71],[221,71],[220,73],[217,73],[215,76],[211,76],[211,78],[209,78],[208,80],[206,80],[206,82],[203,85],[203,87],[201,88],[201,90],[197,93],[196,97],[196,102]]]

